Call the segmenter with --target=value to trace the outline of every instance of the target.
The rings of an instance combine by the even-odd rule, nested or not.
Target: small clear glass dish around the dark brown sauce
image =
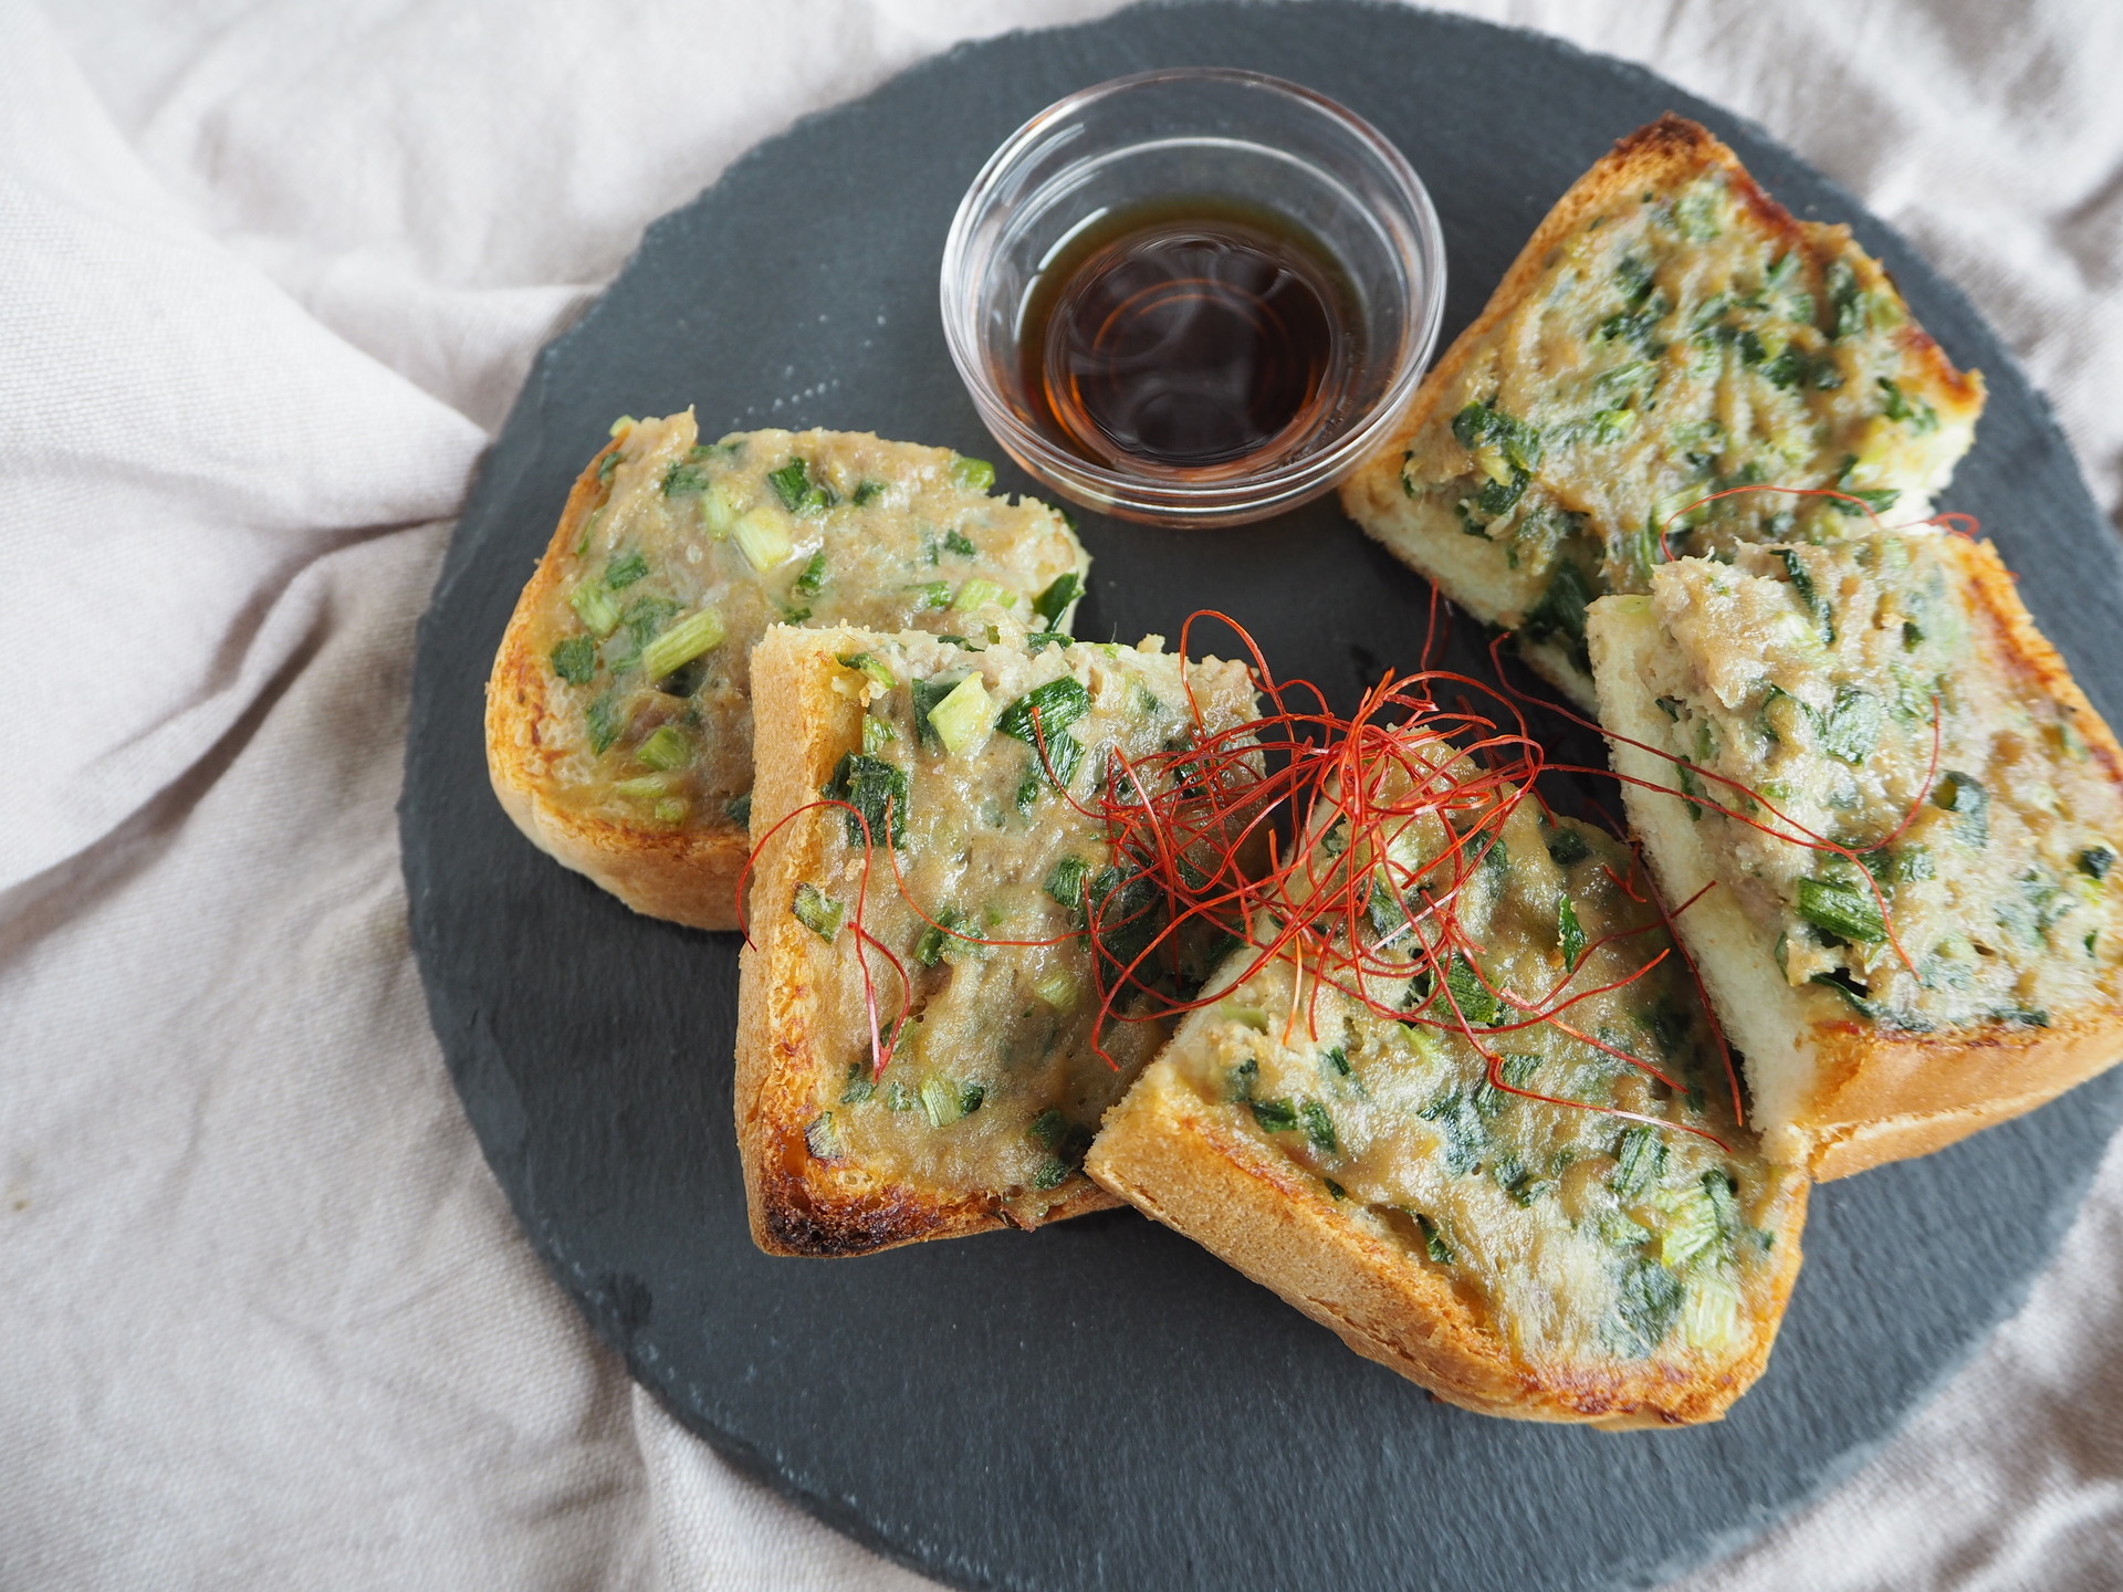
[[[1295,223],[1348,289],[1348,357],[1308,422],[1242,467],[1085,458],[1038,427],[1019,338],[1042,265],[1102,219],[1210,200]],[[1227,68],[1115,79],[998,149],[951,221],[943,327],[1004,452],[1085,507],[1172,526],[1244,524],[1318,497],[1380,448],[1422,378],[1446,259],[1422,180],[1369,123],[1295,83]]]

